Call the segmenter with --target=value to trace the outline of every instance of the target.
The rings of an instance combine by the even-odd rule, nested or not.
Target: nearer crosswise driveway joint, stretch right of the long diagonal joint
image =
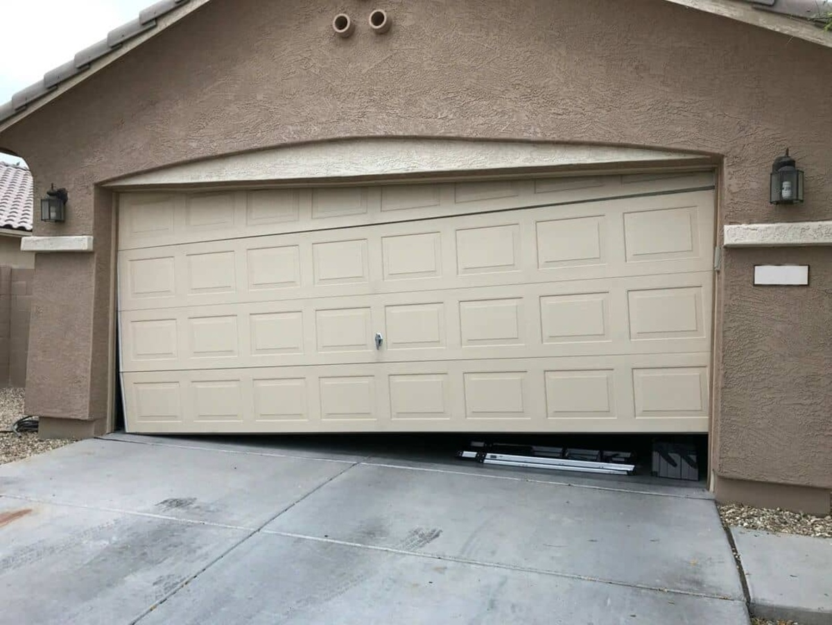
[[[702,599],[717,599],[720,601],[735,601],[737,603],[744,603],[743,598],[732,598],[726,595],[696,593],[690,590],[682,590],[681,588],[657,588],[655,586],[647,586],[646,584],[618,582],[614,579],[593,578],[588,575],[579,575],[577,573],[565,573],[561,571],[547,571],[542,568],[522,567],[516,564],[484,562],[482,560],[473,560],[470,558],[459,558],[458,556],[439,555],[437,553],[420,553],[418,551],[408,551],[407,549],[397,549],[392,547],[382,547],[380,545],[370,545],[363,543],[353,543],[347,540],[338,540],[337,538],[321,538],[319,536],[309,536],[307,534],[280,532],[274,529],[262,529],[259,533],[270,534],[274,536],[282,536],[284,538],[297,538],[300,540],[310,540],[316,543],[330,543],[337,544],[343,547],[353,547],[359,549],[370,549],[372,551],[379,551],[383,553],[392,553],[395,555],[415,556],[417,558],[425,558],[431,560],[442,560],[443,562],[453,562],[459,564],[468,564],[483,568],[501,568],[508,571],[517,571],[518,573],[537,573],[540,575],[548,575],[556,578],[574,579],[582,582],[606,583],[612,586],[622,586],[624,588],[636,588],[637,590],[645,590],[653,593],[666,593],[684,595],[686,597],[695,597]]]

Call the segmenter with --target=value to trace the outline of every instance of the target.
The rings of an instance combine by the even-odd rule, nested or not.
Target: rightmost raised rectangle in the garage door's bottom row
[[[636,419],[708,415],[706,367],[634,369],[632,379]]]

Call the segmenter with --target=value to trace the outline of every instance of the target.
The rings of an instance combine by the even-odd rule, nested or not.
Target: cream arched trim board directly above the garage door
[[[110,181],[111,188],[512,171],[552,166],[691,161],[686,152],[521,141],[357,138],[220,156]]]

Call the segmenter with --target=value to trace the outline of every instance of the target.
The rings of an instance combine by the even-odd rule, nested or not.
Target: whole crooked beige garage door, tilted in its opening
[[[131,193],[127,429],[706,432],[710,174]]]

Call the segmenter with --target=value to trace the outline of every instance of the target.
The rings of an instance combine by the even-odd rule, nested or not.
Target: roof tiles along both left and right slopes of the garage
[[[777,32],[784,32],[791,37],[800,37],[807,41],[820,43],[832,47],[832,34],[820,32],[820,28],[829,20],[832,13],[832,0],[668,0],[686,7],[696,8],[701,11],[714,12],[725,17],[733,17],[756,26],[770,28]],[[101,64],[99,60],[116,55],[116,52],[125,44],[141,36],[145,32],[153,31],[157,27],[166,27],[172,22],[162,23],[161,17],[170,13],[176,17],[175,12],[186,14],[182,7],[191,5],[191,8],[199,7],[210,0],[161,0],[156,4],[147,7],[139,13],[139,17],[122,24],[115,30],[110,31],[105,39],[92,44],[75,55],[72,61],[64,63],[47,72],[42,80],[26,87],[12,96],[10,102],[0,104],[0,124],[7,119],[14,117],[17,113],[24,111],[29,104],[36,102],[43,97],[56,92],[63,82],[67,82],[84,72],[92,73],[97,71]],[[753,7],[762,12],[779,13],[779,23],[761,22],[760,20],[740,17],[736,7]],[[753,11],[751,11],[753,13]],[[782,22],[780,22],[782,19]],[[796,26],[795,26],[796,25]],[[814,25],[814,26],[813,26]],[[819,34],[820,33],[820,36]],[[829,37],[826,35],[829,34]],[[90,71],[92,70],[92,72]]]

